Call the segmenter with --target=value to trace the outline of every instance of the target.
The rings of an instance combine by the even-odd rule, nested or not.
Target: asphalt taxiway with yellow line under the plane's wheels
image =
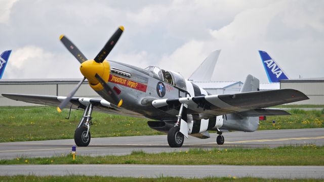
[[[280,129],[260,130],[255,132],[228,132],[223,133],[224,145],[216,144],[216,133],[211,133],[209,139],[197,139],[189,136],[181,148],[170,148],[167,135],[153,136],[123,136],[112,138],[93,138],[88,147],[77,147],[77,155],[103,156],[126,155],[132,151],[147,153],[186,151],[191,148],[260,148],[278,147],[287,145],[324,145],[324,128],[312,129]],[[74,140],[53,140],[34,142],[0,143],[0,159],[16,157],[50,157],[68,154]]]

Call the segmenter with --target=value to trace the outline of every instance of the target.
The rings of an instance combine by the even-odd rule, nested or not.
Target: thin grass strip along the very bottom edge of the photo
[[[205,177],[205,178],[183,178],[183,177],[157,177],[157,178],[135,178],[135,177],[102,177],[102,176],[85,176],[85,175],[68,175],[68,176],[34,176],[34,175],[16,175],[16,176],[0,176],[0,181],[78,181],[78,182],[88,182],[88,181],[134,181],[134,182],[149,182],[149,181],[190,181],[190,182],[200,182],[200,181],[265,181],[265,182],[281,182],[288,181],[288,179],[264,179],[256,177],[242,177],[237,178],[235,176],[228,177]],[[322,179],[293,179],[293,181],[322,181]]]

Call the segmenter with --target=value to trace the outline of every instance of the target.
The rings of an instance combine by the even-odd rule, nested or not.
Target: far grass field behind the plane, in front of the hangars
[[[323,111],[293,109],[292,116],[268,117],[260,122],[259,129],[293,129],[324,127]],[[0,107],[0,142],[73,139],[74,130],[83,115],[72,110],[69,120],[64,119],[68,110],[57,113],[55,107]],[[147,126],[147,120],[93,112],[93,138],[107,136],[133,136],[164,134]],[[272,120],[276,121],[272,126]]]

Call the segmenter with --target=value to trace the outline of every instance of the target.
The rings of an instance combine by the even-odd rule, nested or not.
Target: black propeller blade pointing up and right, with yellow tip
[[[102,50],[94,59],[97,63],[102,63],[106,59],[106,57],[108,56],[112,48],[115,46],[116,42],[118,41],[123,31],[124,31],[124,27],[119,26],[118,29],[115,31],[115,33],[110,37],[110,39],[107,41],[105,46],[102,48]]]

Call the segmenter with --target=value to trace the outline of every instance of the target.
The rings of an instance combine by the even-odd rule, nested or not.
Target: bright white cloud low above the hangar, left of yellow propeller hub
[[[82,78],[72,56],[53,54],[34,45],[12,52],[4,78]]]

